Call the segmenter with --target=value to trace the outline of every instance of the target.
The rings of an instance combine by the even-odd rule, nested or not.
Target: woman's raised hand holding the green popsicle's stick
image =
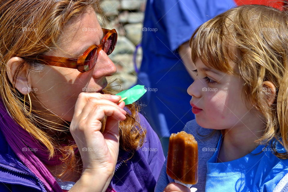
[[[126,119],[126,111],[123,110],[125,103],[116,104],[120,99],[115,95],[82,92],[76,101],[70,124],[70,132],[83,162],[82,175],[85,174],[85,178],[97,175],[100,180],[107,178],[104,186],[110,183],[117,163],[119,121]],[[101,133],[101,120],[105,115],[105,130]]]

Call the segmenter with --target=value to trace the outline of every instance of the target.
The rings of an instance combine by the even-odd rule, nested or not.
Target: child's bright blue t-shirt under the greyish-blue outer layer
[[[207,161],[205,192],[284,192],[288,191],[288,160],[277,158],[270,145],[259,145],[239,159],[216,163],[222,143],[219,137],[214,155]],[[276,142],[276,141],[274,141]],[[277,142],[277,152],[285,152]],[[254,155],[257,154],[258,155]]]

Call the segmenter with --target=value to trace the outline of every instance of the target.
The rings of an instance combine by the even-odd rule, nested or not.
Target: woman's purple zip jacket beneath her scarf
[[[146,129],[144,145],[134,152],[120,149],[111,186],[117,192],[154,191],[165,158],[158,136],[139,113],[140,125]],[[46,192],[43,183],[16,157],[0,131],[0,191]]]

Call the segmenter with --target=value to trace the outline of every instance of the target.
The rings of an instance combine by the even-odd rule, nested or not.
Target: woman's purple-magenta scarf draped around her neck
[[[61,153],[56,150],[56,155],[48,160],[48,149],[10,117],[1,98],[0,118],[1,131],[13,152],[43,182],[47,191],[62,192],[57,181],[44,165],[61,164],[59,160]]]

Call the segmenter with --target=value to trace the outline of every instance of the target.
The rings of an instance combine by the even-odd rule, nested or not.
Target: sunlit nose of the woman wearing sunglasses
[[[111,61],[108,55],[101,50],[98,54],[97,62],[93,69],[92,76],[100,78],[102,76],[112,76],[117,72],[115,64]]]

